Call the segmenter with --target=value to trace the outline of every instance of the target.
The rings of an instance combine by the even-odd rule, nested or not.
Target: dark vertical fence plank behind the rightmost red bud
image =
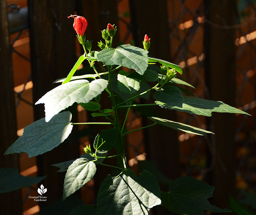
[[[166,1],[154,0],[130,0],[132,18],[133,38],[135,45],[143,48],[144,35],[150,38],[149,56],[170,61],[170,42],[168,31]],[[143,12],[142,12],[143,11]],[[154,103],[152,100],[151,103]],[[161,109],[156,110],[161,118],[176,121],[173,111]],[[146,120],[146,125],[152,121]],[[167,127],[155,126],[145,131],[145,144],[149,148],[148,157],[156,160],[158,168],[170,179],[180,176],[178,135],[175,130]],[[163,156],[163,152],[168,156]],[[175,165],[173,165],[175,164]],[[168,171],[167,171],[168,170]],[[170,214],[164,207],[158,206],[155,214]]]

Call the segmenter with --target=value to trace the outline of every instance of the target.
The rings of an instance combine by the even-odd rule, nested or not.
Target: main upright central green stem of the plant
[[[122,135],[122,132],[121,132],[121,129],[120,129],[120,126],[119,126],[119,120],[118,120],[118,115],[117,115],[117,110],[116,110],[116,102],[115,102],[115,98],[114,98],[114,95],[113,95],[113,90],[112,90],[112,84],[111,84],[111,70],[110,70],[110,66],[108,66],[108,86],[109,86],[109,89],[110,89],[110,97],[111,97],[111,101],[112,101],[112,104],[113,104],[113,111],[114,111],[114,115],[115,115],[115,122],[116,122],[116,127],[118,127],[119,131],[119,138],[120,138],[120,143],[121,143],[121,152],[122,152],[122,160],[123,160],[123,164],[124,164],[124,169],[127,168],[127,164],[126,164],[126,160],[125,160],[125,154],[124,154],[124,142],[123,142],[123,135]]]

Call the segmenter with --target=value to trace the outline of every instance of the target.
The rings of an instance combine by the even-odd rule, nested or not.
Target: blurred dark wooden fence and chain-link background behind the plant
[[[99,126],[78,126],[67,141],[37,157],[29,158],[26,153],[2,156],[24,127],[44,117],[44,106],[34,103],[56,87],[52,82],[66,77],[83,54],[73,19],[67,19],[70,14],[87,19],[86,39],[93,41],[92,50],[99,50],[100,30],[108,23],[118,28],[114,46],[130,43],[143,48],[147,34],[151,38],[150,57],[184,67],[178,78],[196,89],[184,87],[183,95],[223,101],[252,115],[213,113],[208,118],[160,107],[133,110],[126,123],[128,131],[150,123],[147,116],[158,116],[211,130],[215,135],[202,137],[151,127],[128,134],[126,150],[132,170],[138,174],[148,169],[156,174],[162,191],[168,190],[170,180],[188,175],[215,186],[209,199],[212,204],[231,210],[239,205],[256,212],[255,0],[0,0],[0,12],[0,165],[18,168],[24,176],[47,175],[42,181],[47,202],[38,204],[28,198],[37,196],[40,183],[2,194],[1,214],[68,214],[70,208],[83,203],[96,204],[102,180],[115,174],[97,167],[94,179],[62,202],[65,172],[57,172],[52,165],[79,157],[105,128]],[[85,62],[79,69],[76,75],[92,73]],[[110,108],[104,96],[101,104]],[[151,97],[136,102],[152,103]],[[101,120],[92,119],[77,105],[70,111],[72,122]],[[157,206],[150,214],[169,213]]]

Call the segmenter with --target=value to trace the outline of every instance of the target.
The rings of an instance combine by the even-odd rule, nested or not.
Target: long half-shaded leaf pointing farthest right
[[[234,107],[229,106],[228,104],[224,104],[223,102],[211,101],[202,98],[196,97],[188,97],[183,96],[183,104],[182,107],[174,105],[171,106],[166,104],[164,101],[156,101],[155,103],[161,107],[168,108],[171,110],[187,112],[191,114],[197,114],[202,116],[210,117],[212,116],[212,112],[219,113],[241,113],[250,115],[244,111],[236,109]]]

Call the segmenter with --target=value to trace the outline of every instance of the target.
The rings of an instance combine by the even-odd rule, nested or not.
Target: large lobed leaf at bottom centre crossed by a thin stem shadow
[[[160,189],[154,175],[144,170],[136,177],[126,169],[116,177],[108,175],[97,196],[98,215],[147,215],[161,204]]]

